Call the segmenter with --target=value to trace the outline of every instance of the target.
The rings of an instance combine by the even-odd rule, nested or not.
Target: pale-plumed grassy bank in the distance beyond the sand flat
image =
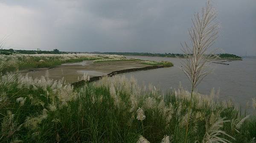
[[[68,62],[122,58],[117,55],[99,54],[14,54],[0,55],[0,73],[31,68],[56,67]]]

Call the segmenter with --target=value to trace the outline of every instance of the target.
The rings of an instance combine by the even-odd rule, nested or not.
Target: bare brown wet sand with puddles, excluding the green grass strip
[[[68,83],[74,83],[81,81],[81,77],[84,73],[87,73],[90,77],[105,76],[108,73],[112,73],[118,70],[127,70],[134,68],[149,67],[150,65],[140,64],[140,61],[119,61],[119,62],[101,62],[93,63],[93,61],[83,61],[77,63],[67,63],[54,68],[40,68],[23,70],[23,75],[28,74],[33,78],[40,78],[46,76],[46,71],[49,72],[49,78],[59,80],[64,77]],[[79,77],[79,80],[78,80]]]

